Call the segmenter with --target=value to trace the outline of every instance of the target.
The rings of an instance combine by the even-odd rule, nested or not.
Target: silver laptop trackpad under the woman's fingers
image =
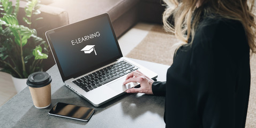
[[[110,83],[109,85],[107,85],[108,87],[110,87],[112,90],[116,91],[116,92],[124,92],[126,91],[127,89],[130,89],[136,85],[139,85],[139,83],[137,82],[131,82],[131,83],[128,83],[126,85],[123,85],[125,81],[125,77],[124,78],[121,78],[121,79],[118,79],[118,81],[115,81],[113,83]]]

